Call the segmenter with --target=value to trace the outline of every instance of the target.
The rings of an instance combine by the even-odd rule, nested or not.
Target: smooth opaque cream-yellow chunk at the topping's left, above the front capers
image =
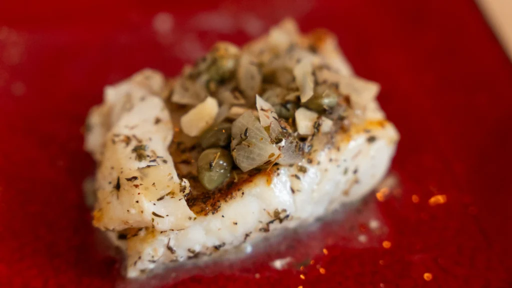
[[[191,137],[201,135],[214,123],[217,112],[219,112],[217,100],[212,97],[206,98],[181,117],[180,125],[183,133]]]

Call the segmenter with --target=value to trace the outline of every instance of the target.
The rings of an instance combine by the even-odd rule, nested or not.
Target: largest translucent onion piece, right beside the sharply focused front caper
[[[233,122],[231,128],[231,153],[242,171],[248,171],[266,162],[272,162],[280,152],[270,136],[250,111]]]

